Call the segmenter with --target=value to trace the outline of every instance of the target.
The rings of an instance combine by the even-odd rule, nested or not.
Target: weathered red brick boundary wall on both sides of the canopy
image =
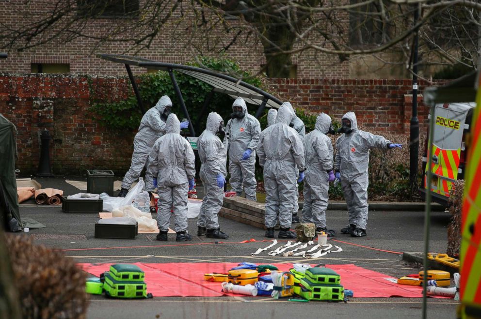
[[[340,118],[354,111],[360,126],[372,132],[409,134],[411,80],[270,79],[283,100],[312,113]],[[419,83],[420,90],[426,83]],[[119,135],[101,127],[89,111],[92,99],[115,101],[132,92],[126,77],[0,74],[0,113],[17,127],[17,168],[35,173],[40,134],[52,136],[50,160],[55,174],[130,165],[135,132]],[[428,108],[419,98],[421,132]]]

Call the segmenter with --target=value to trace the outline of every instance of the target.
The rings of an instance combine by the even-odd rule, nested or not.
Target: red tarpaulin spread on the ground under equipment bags
[[[95,276],[109,271],[112,264],[79,264]],[[154,297],[196,296],[217,297],[226,294],[221,291],[221,283],[204,280],[204,273],[227,273],[237,263],[135,263],[145,272],[147,292]],[[292,264],[273,264],[279,270],[289,271]],[[398,285],[389,281],[393,277],[369,269],[348,265],[326,265],[341,276],[341,285],[354,291],[356,298],[376,297],[422,297],[422,288]]]

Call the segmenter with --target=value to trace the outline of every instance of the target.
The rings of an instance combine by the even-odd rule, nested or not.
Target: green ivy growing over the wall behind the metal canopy
[[[189,63],[192,66],[203,66],[210,70],[218,71],[220,73],[229,74],[237,78],[242,78],[246,83],[252,84],[256,87],[262,86],[262,79],[260,77],[253,77],[250,73],[242,71],[239,65],[232,60],[216,59],[209,57],[201,57],[200,63]],[[208,96],[212,87],[208,84],[188,75],[175,72],[176,81],[182,92],[185,106],[189,110],[196,135],[199,136],[205,128],[207,115],[210,111],[219,113],[223,119],[228,119],[232,112],[233,100],[227,94],[214,93],[210,102],[209,108],[202,118],[199,118],[200,111],[204,104],[204,100]],[[139,93],[142,97],[143,104],[146,109],[154,106],[162,95],[168,95],[172,100],[172,112],[176,113],[179,120],[183,118],[183,112],[177,100],[176,92],[172,85],[169,74],[165,71],[155,73],[147,73],[138,76],[139,79]],[[94,95],[92,93],[92,95]],[[142,119],[142,114],[137,106],[137,99],[133,92],[130,96],[118,102],[105,102],[93,99],[91,110],[95,115],[96,121],[101,125],[111,128],[112,132],[117,134],[131,134],[139,127]],[[248,105],[249,113],[255,114],[257,106]],[[225,120],[227,123],[227,120]],[[199,131],[199,132],[197,132]]]

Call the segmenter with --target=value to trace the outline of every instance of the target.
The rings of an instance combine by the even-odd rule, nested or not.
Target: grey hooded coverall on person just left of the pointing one
[[[329,200],[329,174],[333,168],[334,150],[326,135],[331,118],[318,115],[314,131],[303,139],[305,156],[303,222],[314,223],[316,228],[326,227],[326,209]]]

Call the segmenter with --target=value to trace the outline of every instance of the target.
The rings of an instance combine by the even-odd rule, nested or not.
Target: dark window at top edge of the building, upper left
[[[119,18],[139,14],[139,0],[77,0],[78,14],[88,17]]]

